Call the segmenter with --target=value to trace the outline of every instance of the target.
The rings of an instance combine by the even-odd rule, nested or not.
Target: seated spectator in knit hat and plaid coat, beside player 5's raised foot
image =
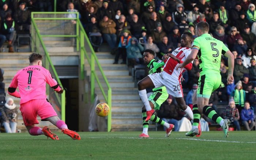
[[[223,118],[229,119],[231,124],[236,127],[236,130],[240,130],[240,115],[238,109],[236,108],[234,99],[229,100],[229,105],[226,107],[223,113]]]

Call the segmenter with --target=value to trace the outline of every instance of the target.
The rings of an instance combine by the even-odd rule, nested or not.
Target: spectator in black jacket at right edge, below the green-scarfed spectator
[[[248,25],[245,25],[241,36],[244,39],[245,43],[248,45],[248,47],[252,47],[253,50],[255,50],[256,35],[253,34],[250,30],[250,27]]]

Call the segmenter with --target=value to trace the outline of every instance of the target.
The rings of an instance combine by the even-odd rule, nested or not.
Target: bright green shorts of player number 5
[[[199,77],[197,97],[210,98],[211,93],[221,85],[221,74],[206,73]]]

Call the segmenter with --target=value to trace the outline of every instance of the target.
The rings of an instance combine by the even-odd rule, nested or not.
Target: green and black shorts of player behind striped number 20
[[[166,101],[169,94],[165,87],[158,87],[153,89],[153,94],[148,97],[148,100],[154,104],[154,109],[159,110],[161,104]]]

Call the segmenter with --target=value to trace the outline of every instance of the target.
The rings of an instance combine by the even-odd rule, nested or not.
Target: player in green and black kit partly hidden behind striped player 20
[[[155,60],[154,56],[155,56],[155,52],[153,50],[151,50],[151,49],[144,50],[143,59],[144,59],[145,64],[149,68],[149,71],[148,71],[149,75],[152,73],[161,72],[163,70],[163,68],[162,68],[163,65],[165,65],[165,63],[163,61]],[[159,110],[161,104],[163,102],[165,102],[165,100],[168,98],[168,96],[169,96],[169,94],[167,93],[165,86],[153,88],[153,93],[150,95],[150,97],[148,97],[148,101],[152,108],[154,108],[155,110]],[[142,134],[139,135],[139,137],[143,137],[143,138],[149,137],[148,133],[147,133],[149,121],[146,121],[146,118],[147,118],[146,111],[147,111],[146,107],[143,105],[142,106],[143,132],[142,132]],[[170,133],[174,129],[173,124],[166,123],[165,121],[163,121],[162,119],[157,117],[155,114],[153,114],[151,116],[150,120],[155,123],[159,123],[167,128],[166,137],[169,137]]]

